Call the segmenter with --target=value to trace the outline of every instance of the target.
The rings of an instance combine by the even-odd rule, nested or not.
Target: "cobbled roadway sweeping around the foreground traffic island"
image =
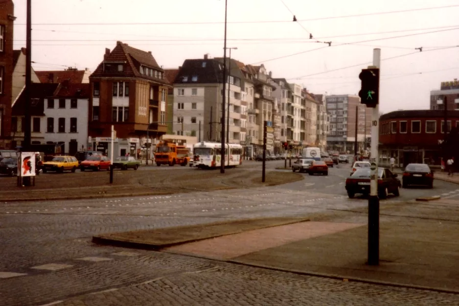
[[[281,164],[269,162],[269,167]],[[254,169],[260,163],[248,162]],[[168,169],[152,167],[153,169]],[[186,171],[185,167],[174,167]],[[187,167],[189,168],[189,167]],[[173,170],[175,171],[175,169]],[[367,206],[348,199],[348,165],[272,188],[0,205],[1,305],[451,305],[455,295],[341,282],[91,243],[93,234]],[[402,190],[459,196],[457,185]],[[390,198],[381,205],[400,199]],[[108,291],[106,291],[108,290]],[[94,294],[95,293],[95,294]]]

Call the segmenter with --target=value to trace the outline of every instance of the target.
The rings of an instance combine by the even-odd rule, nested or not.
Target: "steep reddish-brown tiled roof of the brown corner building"
[[[104,71],[105,63],[123,63],[123,71]],[[115,48],[105,49],[104,60],[99,64],[97,69],[91,74],[91,77],[138,77],[142,79],[148,79],[154,82],[169,84],[167,79],[141,74],[140,66],[145,66],[156,71],[164,72],[164,70],[158,65],[155,58],[150,51],[142,51],[140,49],[124,44],[120,41],[116,42]]]

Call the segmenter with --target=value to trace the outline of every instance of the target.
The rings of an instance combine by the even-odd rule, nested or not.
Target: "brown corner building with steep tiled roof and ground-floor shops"
[[[167,91],[171,87],[151,52],[116,42],[90,76],[89,131],[92,147],[114,155],[138,155],[147,142],[167,131]]]

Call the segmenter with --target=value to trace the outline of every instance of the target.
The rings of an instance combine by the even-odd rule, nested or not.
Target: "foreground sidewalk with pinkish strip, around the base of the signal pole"
[[[456,200],[383,205],[379,266],[366,264],[366,209],[310,215],[311,221],[179,245],[165,243],[161,250],[344,281],[459,293],[458,212]],[[175,234],[187,232],[182,227]]]

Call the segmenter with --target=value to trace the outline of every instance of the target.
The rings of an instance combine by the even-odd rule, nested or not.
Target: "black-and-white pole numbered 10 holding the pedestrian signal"
[[[373,49],[373,66],[381,66],[381,49]],[[379,95],[379,93],[376,93]],[[378,197],[378,144],[379,103],[371,118],[370,196],[368,198],[368,264],[379,265],[379,197]]]

